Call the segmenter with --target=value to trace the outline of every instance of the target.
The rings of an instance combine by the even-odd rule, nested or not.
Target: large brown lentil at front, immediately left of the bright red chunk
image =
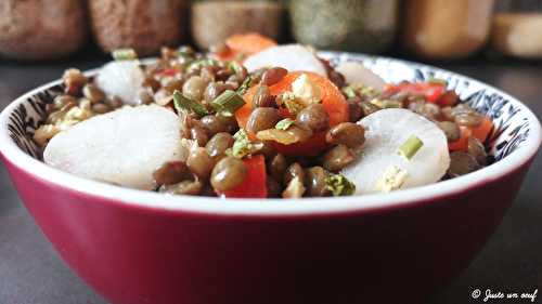
[[[227,191],[241,185],[245,177],[245,163],[241,159],[227,156],[219,160],[212,169],[210,184],[216,190]]]

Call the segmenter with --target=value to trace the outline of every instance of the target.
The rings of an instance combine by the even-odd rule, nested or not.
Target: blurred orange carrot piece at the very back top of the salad
[[[276,45],[276,41],[257,32],[235,34],[225,40],[228,50],[217,54],[220,60],[232,61],[238,56],[249,56]]]

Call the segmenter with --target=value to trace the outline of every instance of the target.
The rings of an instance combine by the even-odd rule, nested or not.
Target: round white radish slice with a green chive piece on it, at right
[[[438,182],[450,167],[444,133],[413,111],[383,109],[358,123],[365,128],[365,143],[358,159],[341,171],[356,184],[358,195],[378,193],[378,181],[393,166],[408,174],[400,188]],[[399,155],[398,149],[411,135],[417,136],[424,145],[409,160]]]

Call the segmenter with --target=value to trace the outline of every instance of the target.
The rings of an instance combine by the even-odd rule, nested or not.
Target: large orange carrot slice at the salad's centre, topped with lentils
[[[348,120],[348,103],[346,102],[343,93],[339,89],[333,84],[327,78],[322,77],[318,74],[310,71],[293,71],[286,75],[280,82],[271,85],[269,88],[272,95],[279,95],[286,91],[292,91],[292,83],[301,75],[306,74],[310,81],[317,84],[322,92],[322,105],[324,106],[327,115],[330,116],[330,125],[336,125],[340,122]],[[251,101],[254,94],[256,93],[257,87],[250,88],[248,92],[244,95],[245,106],[235,113],[235,117],[241,127],[245,127],[248,121],[248,117],[253,110]],[[281,115],[283,117],[295,118],[291,115],[287,109],[282,108]],[[254,134],[249,134],[254,138]],[[325,131],[315,133],[310,140],[297,143],[293,145],[281,145],[275,144],[275,148],[284,155],[302,155],[302,156],[313,156],[318,155],[320,151],[325,149],[327,144],[325,143]]]

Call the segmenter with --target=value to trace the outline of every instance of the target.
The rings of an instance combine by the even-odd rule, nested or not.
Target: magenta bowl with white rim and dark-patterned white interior
[[[0,116],[0,153],[59,254],[113,303],[420,303],[464,269],[500,224],[541,143],[508,94],[439,68],[361,61],[387,81],[448,81],[490,116],[494,163],[423,187],[344,198],[227,199],[127,189],[46,166],[31,135],[61,81]],[[95,70],[87,75],[92,76]]]

